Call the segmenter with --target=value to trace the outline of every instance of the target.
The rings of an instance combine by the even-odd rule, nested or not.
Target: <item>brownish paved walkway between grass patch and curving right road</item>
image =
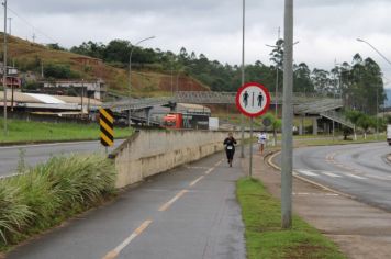
[[[254,177],[280,199],[279,171],[258,154],[253,161]],[[248,159],[242,166],[248,171]],[[293,179],[293,211],[332,238],[349,258],[391,257],[391,213],[298,179]]]

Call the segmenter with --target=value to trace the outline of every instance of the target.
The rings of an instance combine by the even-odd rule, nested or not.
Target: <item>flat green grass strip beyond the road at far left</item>
[[[3,128],[3,119],[0,119]],[[0,134],[0,144],[59,140],[93,140],[99,138],[98,124],[46,123],[8,120],[9,133]],[[133,134],[132,128],[114,128],[114,137],[123,138]]]

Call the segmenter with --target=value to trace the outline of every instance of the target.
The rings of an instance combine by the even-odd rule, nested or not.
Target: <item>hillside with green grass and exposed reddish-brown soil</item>
[[[66,77],[57,76],[56,79],[96,79],[105,81],[108,90],[118,94],[127,94],[129,70],[104,64],[100,59],[77,55],[67,50],[57,50],[48,46],[35,44],[19,37],[9,36],[8,63],[21,71],[21,76],[32,74],[29,80],[49,80],[47,78],[48,68],[62,68]],[[0,34],[0,41],[3,35]],[[41,78],[41,70],[44,70],[44,78]],[[157,97],[170,95],[171,90],[196,90],[209,91],[209,88],[198,80],[185,75],[165,74],[152,71],[150,69],[132,70],[132,95],[134,97]]]

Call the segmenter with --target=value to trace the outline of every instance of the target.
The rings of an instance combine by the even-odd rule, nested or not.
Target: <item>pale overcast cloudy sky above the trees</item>
[[[203,53],[221,63],[241,64],[242,0],[8,0],[12,34],[65,47],[113,38],[178,53]],[[294,61],[329,69],[356,53],[381,66],[391,88],[390,0],[295,0]],[[246,63],[268,64],[278,27],[283,35],[283,0],[246,0]],[[386,80],[387,81],[387,80]]]

